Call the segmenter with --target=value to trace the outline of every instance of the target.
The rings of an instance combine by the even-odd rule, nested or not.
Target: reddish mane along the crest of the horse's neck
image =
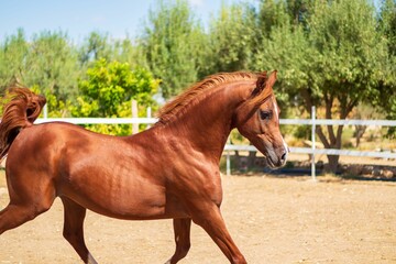
[[[221,73],[211,75],[204,80],[193,85],[186,91],[177,96],[172,101],[167,102],[157,114],[158,124],[166,124],[174,117],[176,117],[182,110],[189,106],[193,100],[197,99],[199,95],[207,92],[208,90],[219,86],[220,84],[239,81],[239,80],[256,80],[257,74],[248,72],[235,73]]]

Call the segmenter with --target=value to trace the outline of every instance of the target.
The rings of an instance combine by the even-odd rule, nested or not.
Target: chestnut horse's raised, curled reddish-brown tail
[[[19,132],[38,118],[46,99],[28,88],[12,87],[8,90],[0,123],[0,158],[6,156]]]

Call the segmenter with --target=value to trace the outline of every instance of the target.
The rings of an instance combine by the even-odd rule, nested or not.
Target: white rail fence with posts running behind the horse
[[[45,123],[53,121],[63,121],[75,124],[153,124],[157,121],[155,118],[44,118],[37,119],[36,123]],[[293,124],[293,125],[311,125],[312,129],[312,147],[290,147],[292,153],[310,154],[311,160],[311,176],[316,179],[315,172],[315,155],[327,154],[327,155],[344,155],[344,156],[370,156],[370,157],[382,157],[382,158],[396,158],[396,153],[392,151],[386,152],[366,152],[366,151],[349,151],[349,150],[334,150],[334,148],[316,148],[315,144],[315,130],[317,124],[332,124],[332,125],[378,125],[378,127],[396,127],[396,120],[330,120],[330,119],[316,119],[315,108],[312,109],[311,119],[280,119],[280,124]],[[230,152],[231,151],[249,151],[254,152],[256,148],[252,145],[232,145],[227,144],[224,152],[227,154],[227,174],[231,174]]]

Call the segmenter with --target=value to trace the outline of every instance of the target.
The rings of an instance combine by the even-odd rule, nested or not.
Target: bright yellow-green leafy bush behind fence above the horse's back
[[[158,80],[142,67],[133,70],[128,63],[108,63],[101,58],[87,69],[87,77],[79,81],[80,96],[73,108],[75,117],[127,118],[131,117],[131,99],[142,106],[155,102]],[[88,125],[108,134],[130,134],[131,125]]]

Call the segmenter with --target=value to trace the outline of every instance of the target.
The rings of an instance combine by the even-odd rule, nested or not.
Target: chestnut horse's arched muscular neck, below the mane
[[[197,151],[220,158],[228,136],[232,130],[232,117],[235,108],[245,98],[249,89],[234,85],[223,87],[190,106],[166,129],[177,139],[187,140]],[[164,128],[165,129],[165,128]]]

